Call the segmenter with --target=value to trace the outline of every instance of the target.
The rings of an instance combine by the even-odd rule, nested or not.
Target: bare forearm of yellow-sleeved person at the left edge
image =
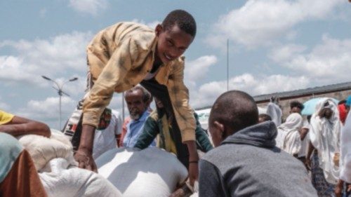
[[[42,135],[44,137],[50,137],[51,135],[48,125],[20,116],[14,116],[10,122],[0,125],[0,132],[8,133],[14,137],[28,134]]]

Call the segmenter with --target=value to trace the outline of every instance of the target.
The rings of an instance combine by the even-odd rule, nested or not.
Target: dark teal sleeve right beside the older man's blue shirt
[[[157,121],[149,116],[145,121],[143,132],[140,133],[134,147],[138,149],[146,149],[150,146],[150,144],[152,144],[152,142],[154,142],[157,134],[159,134]]]

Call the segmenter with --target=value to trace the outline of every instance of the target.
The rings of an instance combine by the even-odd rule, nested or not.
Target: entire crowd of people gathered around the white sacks
[[[303,104],[291,102],[282,121],[277,102],[258,113],[251,95],[232,90],[214,102],[204,130],[183,82],[181,55],[196,31],[192,15],[176,10],[154,30],[119,22],[93,38],[86,94],[62,130],[78,167],[98,172],[95,159],[117,147],[158,147],[187,168],[192,191],[199,182],[199,196],[349,194],[351,97],[339,104],[323,98],[306,117]],[[125,92],[125,120],[107,108],[114,92]],[[51,131],[0,111],[0,196],[47,195],[32,158],[14,138],[28,134],[50,137]]]

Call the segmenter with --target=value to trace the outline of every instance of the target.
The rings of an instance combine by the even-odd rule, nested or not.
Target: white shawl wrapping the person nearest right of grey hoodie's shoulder
[[[300,114],[290,114],[285,123],[278,127],[278,135],[275,139],[276,146],[291,155],[298,154],[301,148],[301,138],[298,130],[302,127],[302,123],[303,117]]]

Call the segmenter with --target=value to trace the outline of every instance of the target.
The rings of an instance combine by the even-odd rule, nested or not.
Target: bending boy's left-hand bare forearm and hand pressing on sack
[[[81,129],[81,142],[74,158],[79,163],[79,168],[98,172],[93,159],[93,142],[95,136],[95,127],[92,125],[83,125]]]

